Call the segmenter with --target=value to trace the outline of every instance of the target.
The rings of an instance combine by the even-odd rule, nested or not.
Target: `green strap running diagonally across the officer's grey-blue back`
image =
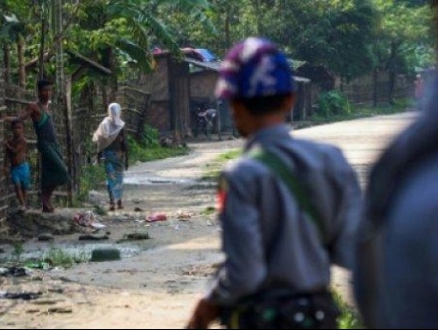
[[[317,226],[319,230],[319,234],[321,240],[324,241],[324,225],[323,222],[313,207],[310,199],[308,198],[304,188],[301,183],[297,179],[297,177],[292,173],[291,169],[275,154],[269,152],[265,149],[257,149],[251,151],[249,155],[261,163],[263,163],[266,167],[270,168],[273,173],[275,173],[286,186],[289,188],[292,196],[298,202],[298,205],[310,215],[313,223]]]

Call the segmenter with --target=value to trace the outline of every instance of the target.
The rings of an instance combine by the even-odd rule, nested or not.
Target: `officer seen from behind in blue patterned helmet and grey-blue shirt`
[[[290,135],[295,91],[267,39],[236,44],[221,65],[216,96],[246,145],[220,176],[226,259],[188,328],[336,327],[330,266],[351,266],[361,191],[338,148]]]

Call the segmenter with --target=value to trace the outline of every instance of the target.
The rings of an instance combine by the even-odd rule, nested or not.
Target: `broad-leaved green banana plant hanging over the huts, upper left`
[[[81,6],[75,33],[77,36],[86,33],[87,44],[70,46],[79,48],[76,50],[80,52],[85,49],[89,53],[97,52],[103,64],[109,65],[115,62],[108,56],[124,54],[143,72],[154,68],[152,43],[159,43],[175,55],[180,52],[173,31],[160,15],[180,11],[208,24],[204,14],[209,8],[207,0],[84,0]]]

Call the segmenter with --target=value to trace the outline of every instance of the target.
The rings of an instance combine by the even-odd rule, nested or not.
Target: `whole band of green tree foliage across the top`
[[[106,83],[125,78],[128,66],[135,66],[137,72],[153,69],[155,62],[150,50],[155,45],[177,55],[181,55],[179,48],[184,46],[208,47],[223,55],[233,43],[248,35],[269,37],[293,58],[322,64],[348,81],[376,67],[381,71],[410,73],[415,67],[428,66],[434,61],[432,13],[426,2],[65,1],[63,42],[66,50],[78,51],[110,68],[113,76]],[[54,49],[56,38],[49,19],[52,3],[33,1],[29,8],[28,0],[0,1],[0,12],[16,17],[25,27],[24,62],[38,55],[44,17],[49,23],[46,50]],[[0,25],[3,25],[5,16],[1,16]],[[4,28],[6,35],[9,28]],[[15,51],[11,57],[15,70],[18,65]],[[46,71],[54,71],[53,62],[52,57],[46,63]],[[67,62],[66,66],[69,73],[78,68],[73,62]],[[102,78],[89,71],[82,79]],[[74,86],[75,92],[80,90],[78,87]]]

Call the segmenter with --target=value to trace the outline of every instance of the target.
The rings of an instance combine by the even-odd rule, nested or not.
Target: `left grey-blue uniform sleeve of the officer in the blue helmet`
[[[257,189],[251,171],[241,168],[221,175],[219,196],[223,205],[219,218],[226,259],[207,294],[214,303],[232,304],[253,293],[265,278]]]

